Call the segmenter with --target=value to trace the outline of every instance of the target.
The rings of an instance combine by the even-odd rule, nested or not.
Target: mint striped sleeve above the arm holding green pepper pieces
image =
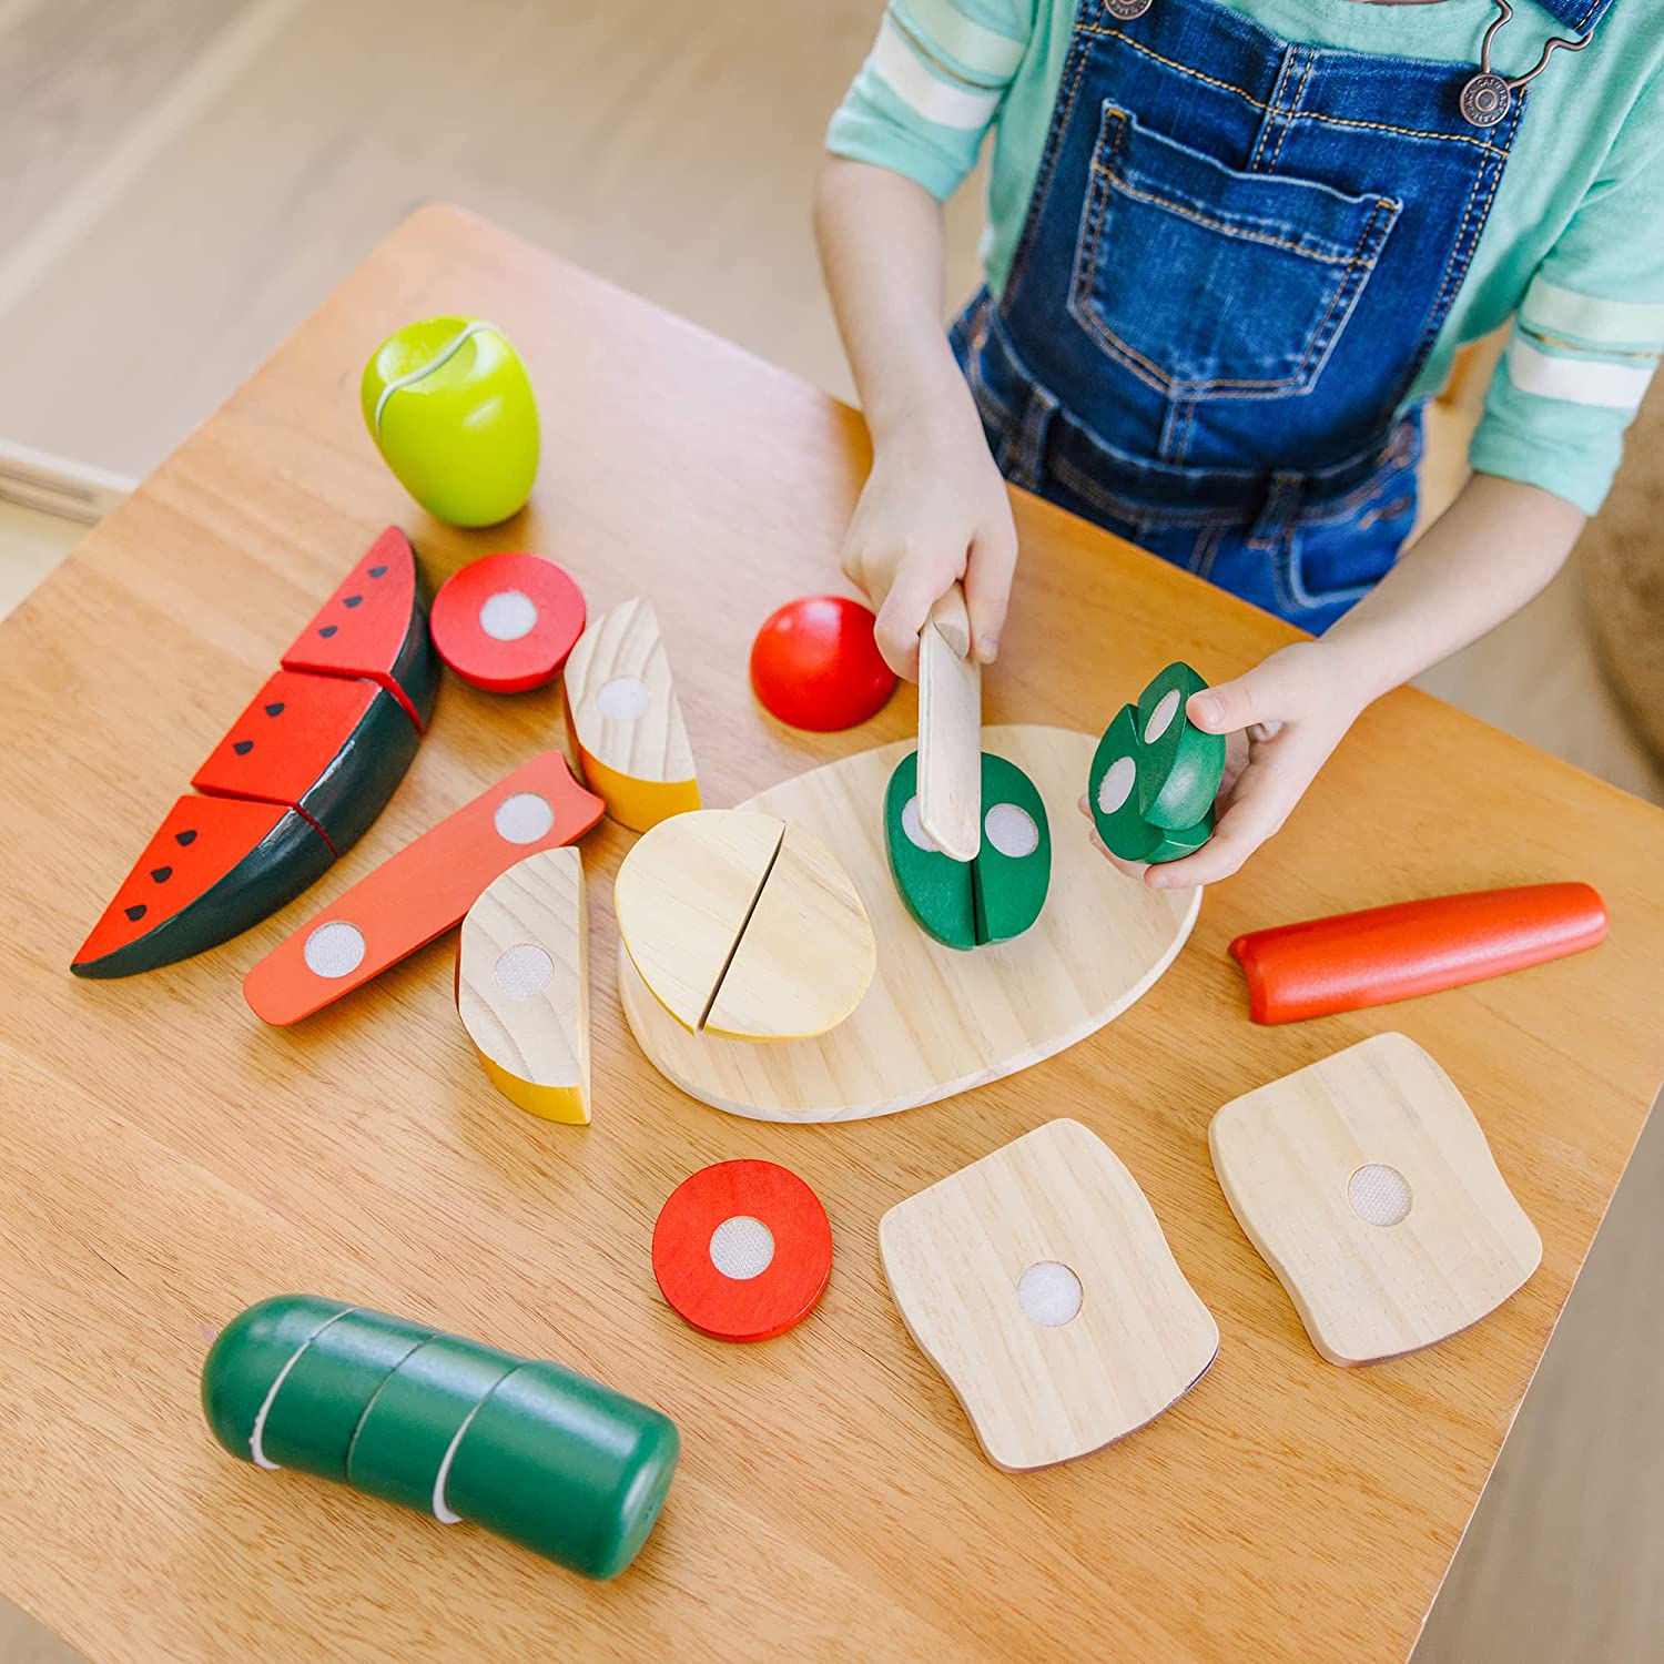
[[[1614,156],[1526,290],[1471,453],[1586,514],[1664,356],[1664,97],[1631,111]]]

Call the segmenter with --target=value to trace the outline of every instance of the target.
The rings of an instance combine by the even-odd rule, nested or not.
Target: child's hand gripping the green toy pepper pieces
[[[1225,734],[1225,779],[1213,837],[1195,855],[1161,865],[1125,862],[1092,840],[1108,859],[1155,890],[1185,889],[1228,879],[1280,830],[1318,769],[1363,709],[1348,684],[1340,647],[1303,641],[1273,652],[1235,682],[1191,694],[1190,721],[1206,734]],[[1082,812],[1088,814],[1085,797]]]

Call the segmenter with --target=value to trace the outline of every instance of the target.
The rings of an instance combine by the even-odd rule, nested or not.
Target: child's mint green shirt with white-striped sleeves
[[[1155,0],[1156,5],[1161,0]],[[1285,40],[1476,63],[1493,0],[1225,0]],[[1077,0],[890,0],[827,148],[950,196],[992,133],[982,261],[1000,293],[1040,166]],[[1458,346],[1514,318],[1473,466],[1594,513],[1664,353],[1664,8],[1616,0],[1558,53],[1531,103],[1468,280],[1406,403]],[[1521,75],[1564,33],[1518,0],[1494,67]]]

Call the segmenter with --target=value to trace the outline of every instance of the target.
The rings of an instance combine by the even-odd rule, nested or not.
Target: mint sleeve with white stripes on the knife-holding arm
[[[1017,75],[1033,10],[1035,0],[890,0],[827,150],[952,196]]]

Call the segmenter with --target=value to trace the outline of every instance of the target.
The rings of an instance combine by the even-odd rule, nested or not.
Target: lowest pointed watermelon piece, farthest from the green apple
[[[334,860],[298,810],[181,797],[70,968],[130,977],[218,947],[291,902]]]

